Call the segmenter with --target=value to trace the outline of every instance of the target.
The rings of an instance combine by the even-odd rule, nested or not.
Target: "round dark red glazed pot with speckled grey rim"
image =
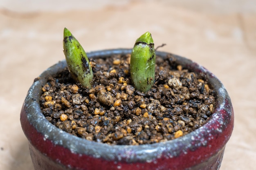
[[[88,57],[127,53],[131,49],[96,51]],[[67,67],[62,61],[35,80],[20,113],[35,170],[218,170],[234,127],[234,111],[226,89],[211,72],[191,60],[159,51],[156,55],[172,55],[183,68],[206,73],[215,91],[216,106],[204,126],[171,141],[139,146],[111,146],[70,135],[47,121],[39,105],[47,77]]]

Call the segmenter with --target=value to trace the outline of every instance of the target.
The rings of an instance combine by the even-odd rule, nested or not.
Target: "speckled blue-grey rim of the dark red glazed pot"
[[[87,53],[87,55],[89,58],[97,56],[107,57],[112,54],[128,54],[131,53],[131,51],[132,49],[110,49],[92,51]],[[143,144],[139,146],[102,144],[95,141],[88,141],[64,132],[51,124],[45,118],[40,109],[38,96],[42,93],[42,84],[45,84],[47,81],[47,78],[45,77],[48,77],[52,71],[56,73],[61,68],[65,68],[67,66],[65,60],[49,67],[29,88],[23,106],[26,110],[28,121],[39,133],[44,135],[44,140],[50,140],[54,145],[63,146],[75,154],[86,154],[106,160],[118,159],[126,162],[133,162],[135,160],[150,162],[155,158],[162,157],[163,155],[167,155],[172,158],[177,157],[180,154],[187,154],[188,152],[193,152],[202,146],[210,148],[216,147],[216,152],[218,152],[218,150],[224,147],[229,140],[234,126],[234,112],[230,97],[225,87],[220,80],[206,68],[187,58],[160,51],[156,51],[156,55],[160,57],[172,55],[176,59],[175,62],[181,64],[184,68],[187,68],[190,71],[206,73],[209,84],[214,84],[214,86],[212,86],[216,93],[216,106],[214,113],[209,120],[207,120],[206,124],[193,132],[170,141],[155,144]],[[220,134],[224,132],[225,138],[220,137]],[[29,139],[29,141],[31,140],[32,139]],[[218,141],[216,142],[213,140]],[[216,146],[213,146],[215,143]]]

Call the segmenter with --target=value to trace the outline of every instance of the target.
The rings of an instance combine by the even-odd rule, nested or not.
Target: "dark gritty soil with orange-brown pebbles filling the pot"
[[[157,57],[155,84],[141,93],[130,80],[130,55],[94,59],[92,89],[76,84],[66,68],[43,86],[40,105],[56,127],[90,141],[152,144],[181,137],[211,116],[215,98],[204,74]]]

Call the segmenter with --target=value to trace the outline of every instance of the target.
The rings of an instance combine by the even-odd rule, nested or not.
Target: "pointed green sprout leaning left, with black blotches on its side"
[[[64,29],[63,49],[72,78],[81,83],[83,87],[90,89],[93,78],[90,61],[81,44],[66,28]]]

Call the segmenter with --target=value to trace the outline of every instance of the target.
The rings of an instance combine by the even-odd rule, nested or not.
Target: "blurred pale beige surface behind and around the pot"
[[[63,60],[63,28],[86,51],[131,48],[150,31],[225,85],[235,127],[220,170],[256,168],[256,1],[0,0],[0,169],[32,170],[19,114],[43,70]]]

